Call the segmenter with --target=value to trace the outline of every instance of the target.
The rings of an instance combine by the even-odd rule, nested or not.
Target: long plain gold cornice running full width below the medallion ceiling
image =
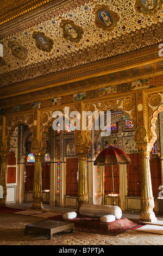
[[[162,70],[163,65],[161,65],[161,61],[162,59],[158,56],[158,45],[153,45],[146,49],[139,49],[130,53],[121,54],[120,56],[102,59],[98,62],[77,66],[70,70],[62,70],[46,76],[3,86],[1,87],[0,99],[13,94],[22,94],[27,91],[34,92],[38,90],[38,88],[47,89],[54,86],[63,86],[64,84],[82,81],[91,77],[95,78],[108,74],[111,74],[110,76],[112,77],[115,72],[120,72],[119,77],[121,78],[125,76],[122,76],[121,71],[127,72],[127,70],[131,70],[131,68],[136,68],[137,71],[135,70],[134,72],[136,75],[139,75],[141,66],[145,67],[144,74],[150,74],[151,71]],[[158,67],[152,70],[152,65],[157,62]],[[146,68],[146,65],[151,65],[151,67],[149,67],[150,69]],[[129,76],[134,76],[134,72],[131,71],[128,78]],[[107,81],[110,81],[110,79]]]

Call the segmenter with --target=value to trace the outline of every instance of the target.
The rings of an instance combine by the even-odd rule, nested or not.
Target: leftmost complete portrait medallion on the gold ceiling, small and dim
[[[28,50],[24,46],[12,41],[9,42],[9,47],[11,48],[12,55],[15,58],[21,60],[25,60],[27,58]]]

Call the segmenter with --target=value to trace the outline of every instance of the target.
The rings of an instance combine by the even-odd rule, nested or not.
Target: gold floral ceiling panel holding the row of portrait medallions
[[[0,74],[35,65],[36,60],[37,64],[55,60],[51,64],[51,66],[56,65],[55,69],[54,67],[48,69],[49,72],[54,72],[59,70],[59,68],[63,70],[64,66],[70,68],[77,65],[77,63],[78,65],[85,64],[86,56],[88,55],[90,61],[101,59],[103,54],[105,56],[108,54],[108,57],[110,57],[113,54],[111,40],[114,40],[116,44],[114,48],[116,47],[117,54],[123,52],[122,50],[126,49],[127,45],[126,51],[132,50],[133,40],[136,44],[134,47],[141,46],[142,41],[143,46],[148,46],[151,44],[147,38],[147,34],[151,33],[148,28],[158,23],[161,25],[162,22],[161,4],[163,0],[153,0],[154,9],[149,9],[149,1],[146,7],[143,7],[143,0],[141,1],[136,0],[136,5],[135,1],[131,0],[127,2],[122,0],[121,4],[120,1],[106,0],[98,1],[99,5],[97,5],[96,1],[89,2],[76,8],[75,11],[52,17],[51,20],[43,22],[43,25],[36,25],[26,29],[26,31],[17,32],[15,35],[11,35],[10,38],[4,38],[2,44],[4,48],[3,63],[5,65],[1,65]],[[154,13],[151,15],[152,10],[154,10]],[[155,15],[155,20],[153,19],[153,14]],[[143,38],[141,38],[139,33],[142,27],[145,29]],[[70,31],[73,31],[73,33]],[[133,40],[128,36],[128,39],[123,40],[126,46],[123,47],[122,45],[123,49],[119,48],[119,45],[122,44],[122,36],[130,33],[135,33]],[[158,44],[158,40],[161,41],[162,33],[157,32],[155,29],[153,29],[152,33],[155,33],[155,44]],[[12,42],[10,47],[8,47],[8,40]],[[128,40],[130,40],[132,45],[131,48]],[[99,56],[96,53],[96,58],[95,56],[91,57],[90,53],[95,53],[95,51],[92,51],[94,50],[93,47],[97,48],[101,42],[104,44],[100,48],[101,55]],[[74,55],[78,53],[78,56],[69,63],[70,58],[68,54],[72,53]],[[80,53],[82,54],[81,57],[83,56],[82,58],[80,58]],[[13,58],[13,55],[15,58]],[[68,63],[65,61],[66,56]],[[21,60],[26,61],[21,62]],[[57,65],[58,60],[62,66]],[[26,72],[24,72],[24,76],[27,80]],[[34,72],[33,77],[37,76],[39,76],[39,72]],[[15,80],[18,79],[17,75],[14,77]],[[7,76],[3,80],[4,83],[9,82]]]

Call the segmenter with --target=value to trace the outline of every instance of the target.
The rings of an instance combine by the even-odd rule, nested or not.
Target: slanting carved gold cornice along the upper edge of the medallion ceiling
[[[28,0],[24,4],[18,4],[15,8],[3,10],[0,19],[0,39],[37,26],[89,1],[92,0]]]

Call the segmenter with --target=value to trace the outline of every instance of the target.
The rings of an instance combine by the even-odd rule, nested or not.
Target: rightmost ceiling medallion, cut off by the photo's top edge
[[[144,15],[156,14],[162,3],[162,0],[136,0],[135,9]]]

